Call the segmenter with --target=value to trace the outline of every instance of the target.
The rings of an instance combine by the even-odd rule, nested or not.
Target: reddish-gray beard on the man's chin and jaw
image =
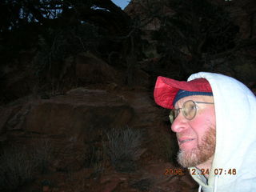
[[[216,131],[210,127],[196,148],[190,151],[178,151],[178,163],[183,167],[198,166],[214,155],[215,146]]]

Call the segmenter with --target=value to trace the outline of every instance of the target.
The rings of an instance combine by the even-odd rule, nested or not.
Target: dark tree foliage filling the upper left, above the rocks
[[[37,93],[56,90],[56,86],[64,84],[77,85],[74,69],[66,74],[67,80],[63,78],[64,62],[86,51],[126,70],[126,82],[133,81],[140,53],[139,43],[134,42],[140,41],[139,33],[130,17],[111,0],[4,0],[0,2],[0,12],[3,89],[8,90],[5,66],[26,70],[27,66],[21,65],[25,52],[30,52],[26,64],[33,64],[28,68],[33,68],[30,74]],[[1,95],[3,102],[11,98],[17,97]]]

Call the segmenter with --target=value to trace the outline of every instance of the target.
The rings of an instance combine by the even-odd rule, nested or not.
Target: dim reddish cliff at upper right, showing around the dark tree
[[[234,78],[238,78],[247,86],[253,85],[256,81],[256,78],[254,76],[254,74],[256,73],[256,64],[254,62],[256,58],[255,1],[215,0],[210,2],[214,3],[215,5],[222,6],[222,8],[230,14],[230,18],[231,21],[234,23],[234,26],[238,26],[238,34],[234,38],[234,43],[236,45],[231,50],[224,51],[221,54],[213,55],[209,55],[207,53],[205,54],[203,52],[201,57],[202,60],[205,62],[205,65],[202,66],[202,69],[200,70],[227,74]],[[157,49],[156,46],[157,42],[152,39],[152,34],[154,34],[154,31],[158,31],[162,25],[159,19],[165,18],[166,16],[171,18],[174,15],[174,10],[172,10],[170,6],[166,6],[166,4],[164,4],[164,1],[158,2],[133,0],[128,6],[126,6],[125,11],[127,14],[130,15],[131,18],[140,19],[140,26],[142,31],[144,32],[142,38],[146,39],[146,41],[148,41],[150,44],[150,46],[146,46],[144,53],[149,57],[153,57],[154,59],[158,59],[158,61],[161,61],[163,54],[161,50],[158,53],[159,49]],[[186,50],[186,48],[184,49]],[[187,51],[185,51],[185,53],[186,52]],[[170,55],[171,53],[172,52],[170,49]],[[190,53],[186,54],[188,54],[186,59],[190,60]],[[147,64],[147,66],[149,67],[150,65],[153,65],[152,63],[154,63],[154,61],[150,61],[150,64]],[[178,71],[176,66],[182,64],[181,61],[175,63],[170,59],[170,61],[168,62],[163,62],[162,65],[170,66],[169,68],[173,68],[173,75],[175,76],[175,71]],[[250,86],[250,88],[254,89],[254,86]]]

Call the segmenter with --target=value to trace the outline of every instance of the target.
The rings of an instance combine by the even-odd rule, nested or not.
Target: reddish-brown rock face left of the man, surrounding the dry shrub
[[[159,138],[168,135],[162,113],[146,90],[77,88],[65,95],[3,107],[1,142],[3,146],[34,147],[42,138],[50,142],[54,156],[50,172],[35,182],[55,182],[58,187],[49,191],[72,191],[72,187],[75,191],[136,191],[140,187],[167,191],[179,185],[182,191],[192,191],[196,185],[188,174],[165,175],[166,169],[174,166],[163,162],[160,155],[154,157],[153,153],[158,154],[159,150],[156,141],[162,142]],[[132,174],[117,173],[106,165],[99,178],[97,174],[94,176],[94,169],[85,166],[86,157],[93,153],[88,149],[102,145],[104,132],[123,126],[143,130],[138,170]],[[36,185],[30,187],[38,188]]]

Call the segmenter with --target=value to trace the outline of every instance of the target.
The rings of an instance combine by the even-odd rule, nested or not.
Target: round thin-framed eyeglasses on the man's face
[[[194,102],[192,100],[186,101],[183,103],[182,108],[173,109],[170,111],[170,122],[174,122],[174,119],[177,118],[180,110],[182,110],[182,114],[186,119],[192,120],[197,114],[198,106],[196,104],[214,104],[214,102]]]

